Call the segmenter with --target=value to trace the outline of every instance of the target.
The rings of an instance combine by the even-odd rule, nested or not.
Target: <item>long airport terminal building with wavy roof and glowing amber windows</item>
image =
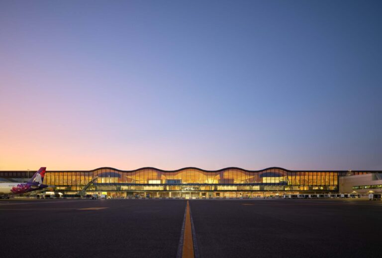
[[[27,180],[34,172],[0,171],[8,181]],[[141,168],[122,171],[99,168],[91,171],[47,171],[44,184],[64,194],[107,194],[111,197],[232,198],[282,196],[285,193],[339,192],[340,178],[381,171],[290,171],[268,168],[249,171],[226,168],[206,171],[184,168],[164,171]]]

